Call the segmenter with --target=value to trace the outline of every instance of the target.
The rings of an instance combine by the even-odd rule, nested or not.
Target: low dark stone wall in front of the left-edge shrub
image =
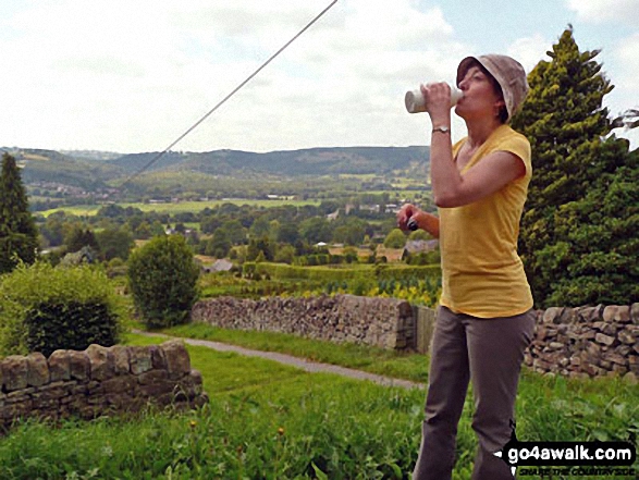
[[[89,419],[137,411],[147,405],[197,406],[207,402],[201,374],[179,341],[152,346],[33,353],[0,361],[0,427],[17,418]]]

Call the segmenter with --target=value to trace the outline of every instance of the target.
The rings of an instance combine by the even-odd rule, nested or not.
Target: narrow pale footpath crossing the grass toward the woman
[[[391,377],[378,376],[361,370],[352,368],[339,367],[336,365],[320,364],[317,361],[310,361],[305,358],[294,357],[292,355],[279,354],[275,352],[262,352],[244,348],[237,345],[230,345],[221,342],[211,342],[208,340],[196,340],[196,339],[183,339],[164,335],[163,333],[151,333],[144,332],[142,330],[134,330],[133,333],[145,335],[145,336],[158,336],[164,339],[177,339],[182,340],[188,345],[204,346],[212,348],[218,352],[233,352],[247,357],[259,357],[268,360],[279,361],[280,364],[291,365],[296,368],[300,368],[311,373],[325,372],[335,373],[343,377],[348,377],[355,380],[368,380],[384,386],[400,386],[402,389],[425,389],[423,383],[411,382],[409,380],[393,379]]]

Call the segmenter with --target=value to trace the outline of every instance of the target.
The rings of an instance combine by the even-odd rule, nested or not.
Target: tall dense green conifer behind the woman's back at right
[[[536,304],[637,301],[637,152],[609,136],[599,51],[580,52],[569,27],[548,53],[513,120],[532,147],[519,253]]]

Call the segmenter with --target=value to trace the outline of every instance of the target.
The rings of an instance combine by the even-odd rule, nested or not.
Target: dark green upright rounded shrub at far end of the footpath
[[[128,287],[147,328],[184,323],[198,297],[199,269],[182,235],[156,236],[128,259]]]

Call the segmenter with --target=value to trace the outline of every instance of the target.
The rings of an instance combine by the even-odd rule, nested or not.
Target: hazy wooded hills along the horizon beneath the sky
[[[184,179],[229,179],[242,181],[295,181],[318,176],[376,175],[410,176],[423,172],[428,164],[429,147],[334,147],[250,152],[216,150],[209,152],[169,151],[116,156],[85,151],[12,148],[16,160],[24,165],[23,179],[35,182],[54,182],[88,190],[106,186],[118,187],[132,179],[130,188],[143,193],[151,188],[161,175],[162,184],[184,185]],[[148,169],[145,169],[157,159]],[[143,169],[144,172],[140,172]],[[187,181],[187,183],[193,183]]]

